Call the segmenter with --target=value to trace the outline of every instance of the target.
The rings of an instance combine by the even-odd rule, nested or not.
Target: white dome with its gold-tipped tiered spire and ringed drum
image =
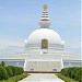
[[[55,49],[63,50],[63,40],[59,34],[50,30],[50,20],[47,12],[47,5],[44,5],[44,11],[39,21],[40,28],[34,31],[25,40],[25,48],[27,49]]]

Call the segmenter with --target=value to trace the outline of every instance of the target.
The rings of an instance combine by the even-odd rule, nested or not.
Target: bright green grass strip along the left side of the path
[[[30,74],[20,74],[17,77],[12,77],[12,78],[9,78],[8,80],[2,80],[0,82],[17,82],[26,77],[28,77]]]

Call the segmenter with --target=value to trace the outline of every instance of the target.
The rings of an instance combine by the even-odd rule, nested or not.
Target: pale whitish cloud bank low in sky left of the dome
[[[24,50],[24,40],[22,39],[0,39],[0,58],[7,58],[15,52],[21,52]]]

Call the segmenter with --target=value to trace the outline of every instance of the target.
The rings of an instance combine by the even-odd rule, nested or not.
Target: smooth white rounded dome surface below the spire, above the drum
[[[40,44],[42,39],[47,39],[49,44],[62,44],[58,33],[50,28],[39,28],[34,31],[27,38],[27,44]]]

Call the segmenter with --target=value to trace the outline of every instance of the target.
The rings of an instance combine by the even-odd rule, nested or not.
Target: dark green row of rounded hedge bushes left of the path
[[[7,80],[11,77],[23,74],[24,70],[21,67],[14,66],[0,66],[0,80]]]

